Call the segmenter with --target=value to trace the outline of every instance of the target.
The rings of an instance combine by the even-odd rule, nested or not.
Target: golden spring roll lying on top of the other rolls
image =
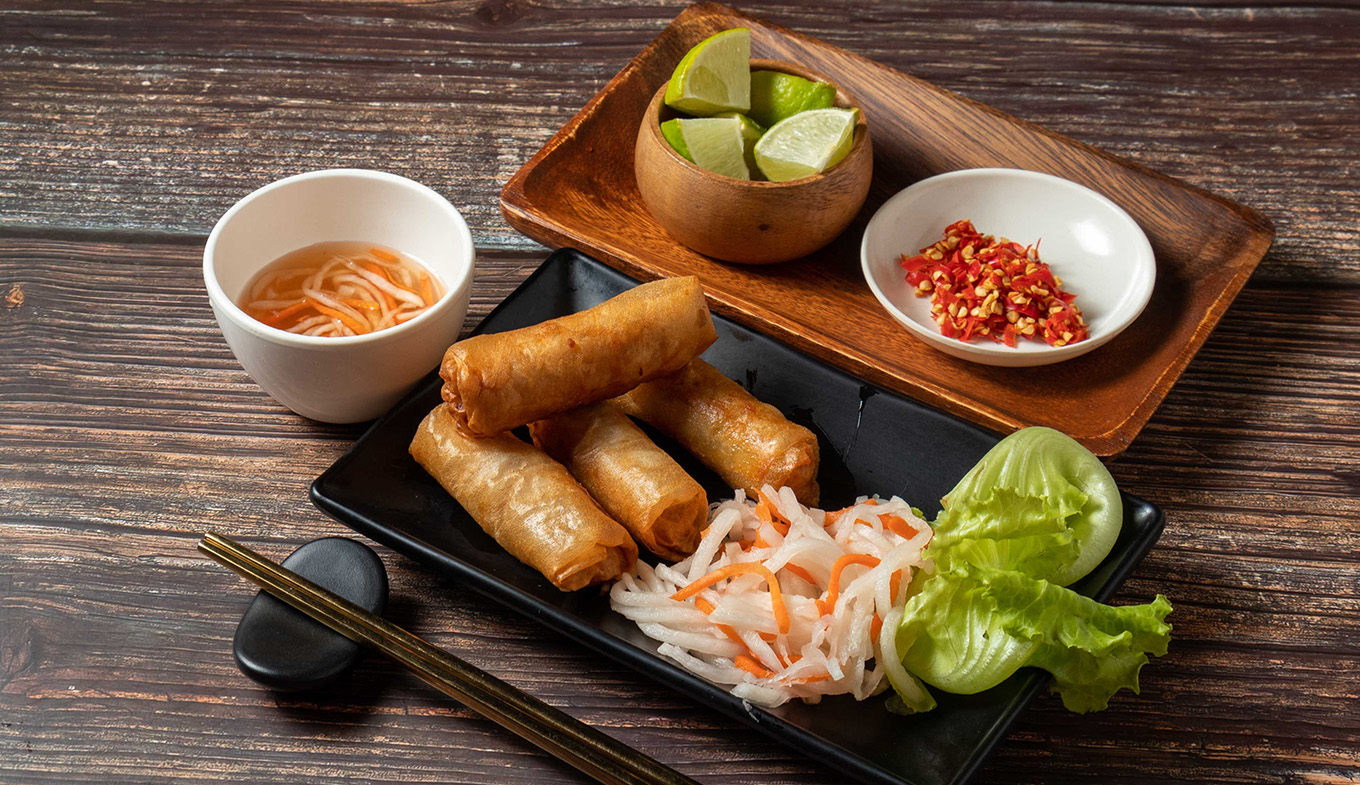
[[[443,400],[464,433],[487,437],[611,399],[684,367],[713,341],[695,276],[645,283],[600,305],[443,355]]]

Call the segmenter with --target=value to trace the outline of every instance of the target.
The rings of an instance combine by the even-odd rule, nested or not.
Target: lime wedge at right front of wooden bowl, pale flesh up
[[[775,182],[824,171],[850,152],[858,116],[858,109],[800,112],[756,141],[756,165]]]

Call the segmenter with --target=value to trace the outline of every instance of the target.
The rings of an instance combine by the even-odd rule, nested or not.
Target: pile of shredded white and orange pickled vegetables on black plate
[[[660,654],[752,703],[885,690],[896,663],[879,652],[892,642],[884,618],[900,614],[930,527],[898,498],[826,513],[789,488],[744,497],[714,509],[691,558],[639,561],[613,585],[613,608],[661,641]]]

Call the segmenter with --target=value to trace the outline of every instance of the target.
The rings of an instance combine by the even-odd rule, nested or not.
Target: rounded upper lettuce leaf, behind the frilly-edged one
[[[1114,478],[1069,437],[1044,427],[1001,439],[941,499],[930,554],[1066,586],[1096,567],[1123,525]]]

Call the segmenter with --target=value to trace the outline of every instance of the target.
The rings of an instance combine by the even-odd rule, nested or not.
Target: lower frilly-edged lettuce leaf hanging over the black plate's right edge
[[[896,649],[928,684],[972,694],[1019,668],[1053,673],[1072,712],[1095,712],[1121,688],[1138,691],[1148,654],[1167,652],[1171,604],[1110,607],[1015,570],[956,559],[903,609]]]

